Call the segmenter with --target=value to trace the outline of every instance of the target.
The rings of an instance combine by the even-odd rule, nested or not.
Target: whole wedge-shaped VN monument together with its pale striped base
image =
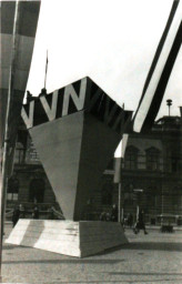
[[[69,251],[69,255],[82,256],[127,242],[119,223],[83,221],[83,213],[88,201],[101,185],[103,171],[131,121],[131,112],[120,108],[90,78],[83,78],[53,93],[32,98],[23,106],[22,118],[67,220],[59,223],[63,231],[54,224],[57,240],[63,237],[67,230],[69,232],[63,237],[63,248],[59,247],[57,252]],[[41,234],[36,235],[32,232],[37,230],[32,226],[40,229],[40,222],[31,221],[28,225],[21,221],[21,225],[18,224],[22,239],[16,239],[16,244],[29,245],[31,237],[36,247],[48,248],[42,237],[50,234],[47,239],[52,240],[50,223],[43,223]],[[73,232],[75,226],[77,233]],[[29,232],[28,237],[26,232]],[[87,235],[88,232],[94,233]],[[67,240],[70,234],[73,235],[71,243]],[[85,235],[91,251],[85,251],[83,245]],[[108,239],[102,245],[105,235]],[[13,237],[16,232],[12,232],[9,242]],[[54,242],[50,243],[54,251]],[[78,246],[73,251],[78,253],[71,254],[68,247],[73,243]]]

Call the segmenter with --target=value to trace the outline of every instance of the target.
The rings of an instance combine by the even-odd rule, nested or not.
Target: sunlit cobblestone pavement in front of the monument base
[[[10,225],[6,236],[9,232]],[[182,231],[125,234],[129,244],[81,260],[4,244],[2,283],[182,284]]]

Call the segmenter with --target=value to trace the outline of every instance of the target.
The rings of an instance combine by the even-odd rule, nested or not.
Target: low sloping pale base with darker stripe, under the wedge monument
[[[128,240],[118,222],[21,219],[6,243],[84,257]]]

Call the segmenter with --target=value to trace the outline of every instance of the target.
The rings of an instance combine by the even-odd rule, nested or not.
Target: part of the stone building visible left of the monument
[[[7,210],[13,207],[14,204],[22,204],[26,211],[31,213],[36,203],[42,212],[51,206],[58,209],[54,193],[22,122],[18,131],[13,163],[13,175],[8,183]]]

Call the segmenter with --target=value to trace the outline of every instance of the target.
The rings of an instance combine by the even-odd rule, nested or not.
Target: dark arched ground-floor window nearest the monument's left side
[[[42,203],[44,197],[44,181],[42,179],[33,179],[29,187],[29,201]]]

